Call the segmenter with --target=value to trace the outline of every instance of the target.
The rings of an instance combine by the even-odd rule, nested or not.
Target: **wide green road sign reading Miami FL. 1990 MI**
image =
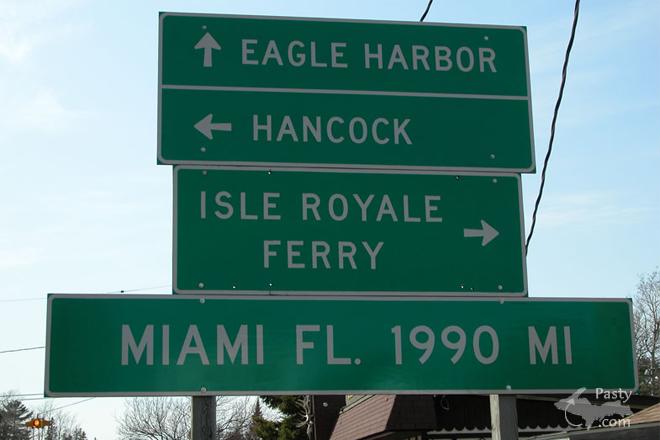
[[[637,388],[629,300],[50,295],[47,396]]]

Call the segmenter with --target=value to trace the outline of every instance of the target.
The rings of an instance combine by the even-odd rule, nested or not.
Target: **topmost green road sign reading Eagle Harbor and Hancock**
[[[533,172],[522,27],[162,13],[165,164]]]

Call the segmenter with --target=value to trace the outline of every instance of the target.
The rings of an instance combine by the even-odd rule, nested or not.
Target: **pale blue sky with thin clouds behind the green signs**
[[[171,169],[156,165],[158,11],[418,20],[425,6],[0,2],[0,351],[43,345],[48,292],[169,292]],[[568,0],[436,1],[427,17],[528,28],[539,173],[523,177],[527,228],[572,11]],[[632,296],[639,275],[660,264],[658,22],[654,0],[582,3],[527,260],[530,296]],[[43,363],[42,350],[0,355],[0,393],[41,392]],[[95,399],[70,411],[105,440],[121,404]]]

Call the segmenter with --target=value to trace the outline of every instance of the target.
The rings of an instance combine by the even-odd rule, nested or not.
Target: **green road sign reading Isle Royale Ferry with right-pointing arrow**
[[[520,178],[174,170],[174,291],[527,292]]]

